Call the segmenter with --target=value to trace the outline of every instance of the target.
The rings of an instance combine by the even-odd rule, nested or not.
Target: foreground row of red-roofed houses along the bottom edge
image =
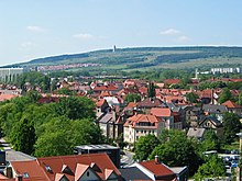
[[[107,154],[55,156],[33,160],[10,161],[2,181],[186,181],[187,167],[170,168],[155,157],[117,168]]]

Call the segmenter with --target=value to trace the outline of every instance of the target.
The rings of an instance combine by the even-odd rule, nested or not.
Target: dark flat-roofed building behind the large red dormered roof
[[[120,168],[120,148],[111,145],[81,145],[74,147],[74,154],[107,154],[117,168]]]

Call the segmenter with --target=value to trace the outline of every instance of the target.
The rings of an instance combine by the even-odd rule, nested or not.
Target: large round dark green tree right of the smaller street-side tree
[[[154,159],[157,155],[169,167],[188,166],[190,174],[194,174],[200,163],[194,140],[180,131],[163,132],[160,139],[162,144],[155,147],[148,158]]]

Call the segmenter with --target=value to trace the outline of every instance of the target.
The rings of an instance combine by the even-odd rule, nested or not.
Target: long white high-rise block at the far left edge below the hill
[[[23,68],[0,68],[0,81],[13,81],[23,71]]]

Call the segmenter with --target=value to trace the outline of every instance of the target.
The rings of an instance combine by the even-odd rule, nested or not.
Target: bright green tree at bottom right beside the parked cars
[[[218,179],[226,177],[226,166],[222,159],[218,158],[218,156],[211,156],[208,162],[199,167],[194,178],[197,181],[205,179]]]

